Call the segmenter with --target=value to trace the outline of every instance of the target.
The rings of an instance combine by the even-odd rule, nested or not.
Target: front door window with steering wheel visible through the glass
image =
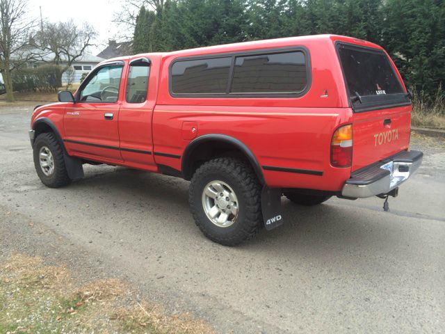
[[[118,101],[122,65],[100,67],[81,88],[79,100],[82,102],[113,103]]]

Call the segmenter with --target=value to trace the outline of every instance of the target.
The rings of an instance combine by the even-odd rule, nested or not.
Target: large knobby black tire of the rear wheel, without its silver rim
[[[228,184],[238,198],[238,216],[229,227],[215,225],[204,212],[202,192],[214,180]],[[202,233],[225,246],[236,246],[254,237],[263,221],[261,184],[251,166],[238,159],[216,158],[197,168],[191,180],[188,202],[195,223]]]

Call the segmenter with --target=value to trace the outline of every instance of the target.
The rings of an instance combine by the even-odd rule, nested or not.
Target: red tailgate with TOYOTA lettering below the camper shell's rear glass
[[[411,106],[355,113],[352,170],[406,150],[410,144]]]

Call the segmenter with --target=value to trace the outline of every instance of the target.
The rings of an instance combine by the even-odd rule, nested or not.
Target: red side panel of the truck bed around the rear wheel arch
[[[348,179],[350,168],[330,167],[330,141],[334,129],[350,122],[351,117],[348,108],[274,108],[271,114],[267,107],[156,106],[154,150],[181,155],[188,141],[182,140],[177,127],[193,121],[198,124],[197,136],[220,133],[232,136],[251,148],[261,166],[331,169],[322,177],[264,170],[269,186],[316,186],[314,189],[336,191]],[[170,161],[168,165],[181,166],[180,161]],[[333,178],[339,181],[330,182]]]

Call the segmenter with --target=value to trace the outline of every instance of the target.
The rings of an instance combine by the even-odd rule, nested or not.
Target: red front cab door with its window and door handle
[[[65,110],[65,145],[74,155],[99,161],[122,161],[119,112],[124,62],[97,67]]]

